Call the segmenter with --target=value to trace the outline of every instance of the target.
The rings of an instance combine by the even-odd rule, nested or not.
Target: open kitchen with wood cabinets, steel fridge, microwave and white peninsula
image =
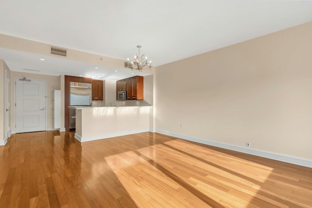
[[[80,142],[147,132],[153,75],[117,81],[64,76],[64,98],[65,130]]]

